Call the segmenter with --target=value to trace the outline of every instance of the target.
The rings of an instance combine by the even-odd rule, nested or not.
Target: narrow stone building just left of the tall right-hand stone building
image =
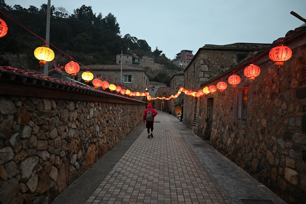
[[[170,95],[177,94],[177,91],[182,87],[185,86],[185,75],[183,72],[178,72],[174,74],[170,79]],[[184,94],[180,94],[177,98],[171,98],[169,100],[169,111],[172,114],[179,114],[181,113],[181,104],[184,103]]]

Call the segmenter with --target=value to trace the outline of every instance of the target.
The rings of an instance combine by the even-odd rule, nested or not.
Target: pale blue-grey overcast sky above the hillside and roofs
[[[47,0],[5,0],[8,5],[40,8]],[[54,7],[70,13],[82,5],[105,17],[112,13],[122,37],[130,34],[146,40],[152,51],[156,46],[174,59],[181,50],[196,54],[206,44],[236,42],[272,43],[300,27],[306,19],[306,0],[50,0]],[[12,16],[13,17],[13,16]],[[52,22],[50,22],[52,24]],[[26,25],[24,25],[27,27]],[[43,37],[43,36],[42,36]],[[52,43],[52,36],[50,36]],[[57,46],[60,49],[60,45]]]

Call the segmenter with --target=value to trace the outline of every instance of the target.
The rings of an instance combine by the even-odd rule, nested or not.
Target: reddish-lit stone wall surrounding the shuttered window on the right
[[[235,74],[241,76],[241,83],[236,88],[228,84],[222,93],[201,97],[195,132],[207,138],[208,101],[213,99],[210,144],[286,202],[302,204],[306,203],[306,39],[285,44],[293,55],[279,71],[268,53],[258,55],[254,64],[261,72],[255,80],[244,76],[247,65],[237,66]],[[229,75],[223,80],[227,82]],[[202,88],[220,80],[211,80]],[[237,90],[244,87],[248,87],[248,115],[246,121],[240,121],[236,117]]]

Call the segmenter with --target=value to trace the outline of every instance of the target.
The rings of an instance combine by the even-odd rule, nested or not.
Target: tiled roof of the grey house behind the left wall
[[[80,67],[80,70],[85,71],[87,67],[95,71],[121,71],[121,65],[118,65],[118,64],[115,64],[115,65],[87,65],[87,66]],[[144,70],[142,68],[122,65],[122,71],[144,71]]]

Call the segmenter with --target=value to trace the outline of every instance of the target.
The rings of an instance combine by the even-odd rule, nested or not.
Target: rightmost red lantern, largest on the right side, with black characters
[[[292,50],[285,45],[278,45],[270,50],[269,57],[275,65],[283,65],[292,56]]]

